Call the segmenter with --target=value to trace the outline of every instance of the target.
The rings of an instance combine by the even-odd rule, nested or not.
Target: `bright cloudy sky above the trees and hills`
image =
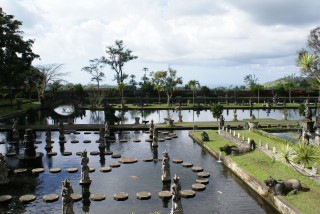
[[[176,69],[184,83],[243,85],[297,73],[295,57],[311,29],[320,25],[315,0],[0,0],[7,14],[23,21],[25,38],[35,39],[34,65],[61,63],[65,79],[90,83],[81,71],[106,46],[123,40],[137,60],[125,72]],[[102,84],[115,84],[105,68]]]

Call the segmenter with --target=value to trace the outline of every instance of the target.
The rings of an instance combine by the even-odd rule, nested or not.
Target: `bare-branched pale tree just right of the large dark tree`
[[[36,68],[41,73],[41,79],[38,84],[38,96],[39,98],[45,97],[45,90],[49,83],[57,80],[62,80],[60,77],[66,75],[67,73],[61,73],[60,70],[63,64],[48,64],[48,65],[38,65]]]

